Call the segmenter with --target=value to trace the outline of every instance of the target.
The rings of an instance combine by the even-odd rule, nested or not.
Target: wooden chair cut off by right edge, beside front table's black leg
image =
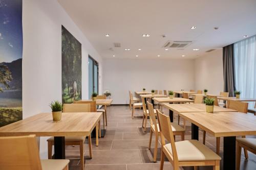
[[[241,162],[241,150],[248,150],[253,154],[256,154],[256,138],[238,138],[237,142],[237,156],[236,156],[236,169],[240,170],[240,162]]]

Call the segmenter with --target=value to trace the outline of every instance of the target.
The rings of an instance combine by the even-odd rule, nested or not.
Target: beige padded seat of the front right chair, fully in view
[[[204,160],[221,160],[221,157],[214,151],[207,148],[198,140],[183,140],[175,142],[179,161],[204,161]],[[170,143],[164,147],[172,154]]]

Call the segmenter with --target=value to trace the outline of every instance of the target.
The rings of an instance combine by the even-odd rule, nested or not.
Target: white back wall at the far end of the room
[[[113,104],[128,104],[129,90],[194,89],[194,60],[104,59],[103,90],[110,90]]]

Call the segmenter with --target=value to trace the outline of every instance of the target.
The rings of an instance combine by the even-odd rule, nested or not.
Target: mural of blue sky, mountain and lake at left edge
[[[22,0],[0,0],[0,127],[22,119]]]

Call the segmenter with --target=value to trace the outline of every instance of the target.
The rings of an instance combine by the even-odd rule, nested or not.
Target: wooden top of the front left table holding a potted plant
[[[52,113],[39,113],[0,128],[0,136],[88,136],[101,118],[101,112],[62,113],[54,122]]]

